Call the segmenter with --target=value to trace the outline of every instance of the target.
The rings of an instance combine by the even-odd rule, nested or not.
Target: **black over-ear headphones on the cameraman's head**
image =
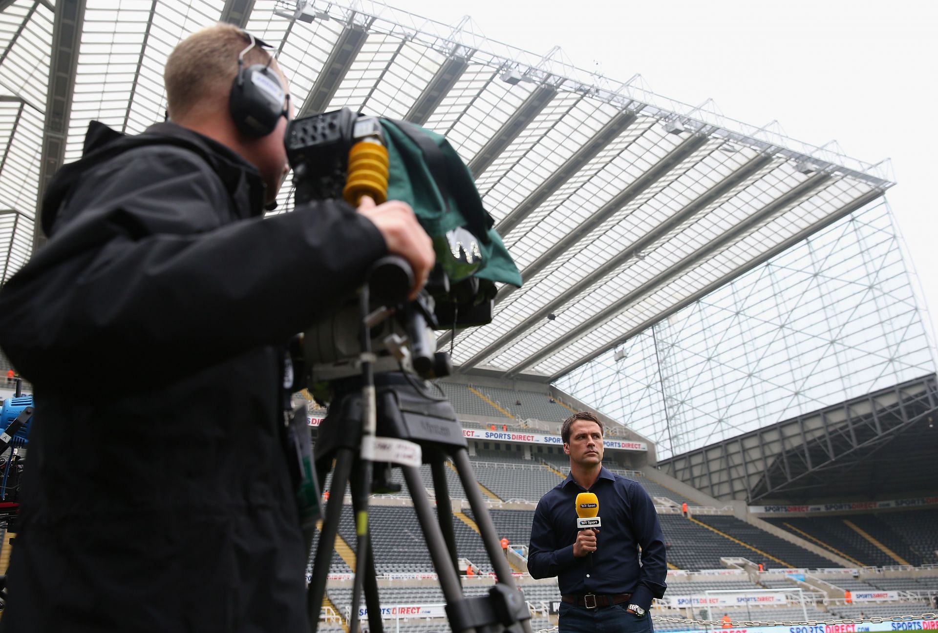
[[[237,56],[237,77],[232,82],[228,96],[228,108],[231,110],[234,125],[242,134],[252,137],[265,137],[277,128],[280,117],[290,119],[289,100],[280,77],[271,69],[270,61],[244,67],[244,56],[255,46],[273,48],[263,40],[257,39],[247,31],[244,36],[250,41],[248,47]]]

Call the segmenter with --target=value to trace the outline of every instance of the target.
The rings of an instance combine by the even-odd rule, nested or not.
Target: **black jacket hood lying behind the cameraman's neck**
[[[202,156],[205,162],[219,175],[229,193],[235,197],[238,190],[247,185],[246,202],[251,214],[260,214],[264,209],[265,184],[260,172],[229,147],[174,123],[150,125],[143,134],[122,134],[98,121],[88,124],[84,137],[82,157],[68,163],[53,176],[42,198],[42,232],[49,236],[58,219],[59,210],[68,200],[68,195],[85,173],[129,150],[145,145],[174,145],[191,150]]]

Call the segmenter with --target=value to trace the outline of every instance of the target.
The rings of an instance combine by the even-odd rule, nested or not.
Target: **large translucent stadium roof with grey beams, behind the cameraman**
[[[468,19],[367,0],[0,0],[0,279],[41,242],[38,195],[88,122],[161,120],[167,54],[218,21],[278,48],[301,113],[406,119],[469,165],[524,286],[456,334],[461,371],[563,375],[893,184],[886,161],[480,37]]]

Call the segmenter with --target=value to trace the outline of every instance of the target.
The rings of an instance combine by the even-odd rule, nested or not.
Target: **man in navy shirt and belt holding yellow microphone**
[[[560,434],[570,474],[537,504],[528,571],[557,577],[560,633],[650,633],[647,611],[668,574],[658,512],[638,483],[602,467],[596,416],[573,414]],[[576,498],[585,492],[598,497],[600,529],[577,530]]]

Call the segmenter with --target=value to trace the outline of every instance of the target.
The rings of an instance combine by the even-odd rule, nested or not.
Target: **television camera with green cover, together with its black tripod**
[[[347,109],[291,122],[286,149],[294,169],[298,210],[320,199],[345,199],[353,206],[366,195],[379,204],[401,199],[410,203],[431,236],[437,260],[413,302],[406,300],[413,286],[406,261],[379,260],[367,283],[312,324],[295,345],[295,389],[307,387],[329,405],[313,457],[317,501],[315,481],[325,481],[335,464],[310,579],[312,630],[318,624],[347,485],[356,514],[350,630],[355,632],[359,624],[363,591],[372,633],[383,630],[368,497],[372,492],[400,490],[390,479],[391,469],[400,468],[446,598],[452,630],[530,632],[530,613],[477,486],[461,424],[452,405],[428,382],[448,375],[452,368],[449,354],[435,351],[433,331],[491,322],[494,284],[521,285],[521,275],[492,228],[469,170],[442,137],[416,125]],[[310,213],[315,213],[314,208]],[[459,473],[498,578],[486,596],[465,597],[461,592],[446,489],[447,459]],[[420,464],[431,466],[435,519]],[[301,503],[301,512],[302,508]],[[305,514],[308,544],[317,510],[318,505]]]

